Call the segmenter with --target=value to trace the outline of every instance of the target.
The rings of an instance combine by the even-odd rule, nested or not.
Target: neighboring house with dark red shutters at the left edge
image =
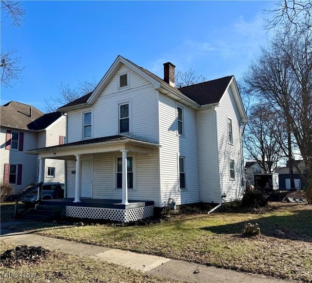
[[[11,101],[0,109],[0,183],[9,182],[18,194],[38,181],[37,155],[25,151],[64,143],[66,117],[60,112],[44,114],[35,107]],[[64,161],[46,159],[45,182],[64,182]]]

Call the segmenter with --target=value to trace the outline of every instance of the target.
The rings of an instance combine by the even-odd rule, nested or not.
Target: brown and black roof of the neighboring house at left
[[[47,128],[61,116],[59,112],[47,113],[16,101],[10,101],[0,108],[0,124],[3,127],[39,131]]]

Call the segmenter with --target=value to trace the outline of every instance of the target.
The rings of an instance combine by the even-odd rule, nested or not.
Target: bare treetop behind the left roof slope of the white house
[[[95,79],[92,81],[78,81],[78,86],[72,87],[69,84],[60,83],[59,85],[59,94],[57,96],[50,96],[49,98],[44,98],[45,110],[46,112],[54,112],[59,107],[70,103],[77,98],[91,93],[97,82]]]

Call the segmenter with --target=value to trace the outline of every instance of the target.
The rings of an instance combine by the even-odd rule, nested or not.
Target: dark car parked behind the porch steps
[[[41,199],[59,199],[64,198],[64,187],[65,184],[59,182],[49,182],[42,184]],[[24,204],[35,203],[38,196],[39,183],[29,184],[21,193],[26,193],[21,197],[21,202]]]

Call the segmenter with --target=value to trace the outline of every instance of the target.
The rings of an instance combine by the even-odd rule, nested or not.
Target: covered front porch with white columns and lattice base
[[[131,154],[140,153],[149,155],[153,153],[154,149],[158,148],[159,145],[151,142],[118,135],[27,151],[29,154],[39,155],[39,182],[43,180],[45,158],[67,160],[75,166],[75,170],[71,170],[72,182],[70,183],[75,191],[72,190],[71,195],[65,192],[64,199],[40,200],[37,208],[49,206],[61,207],[62,216],[88,219],[109,219],[119,222],[137,221],[153,216],[154,201],[148,199],[144,200],[139,194],[136,199],[128,199],[127,156],[129,154],[128,152]],[[122,172],[118,172],[118,176],[121,177],[121,179],[119,179],[120,185],[122,184],[119,188],[121,188],[117,189],[115,186],[115,189],[111,190],[114,195],[108,196],[107,199],[98,197],[93,198],[95,195],[93,191],[90,198],[83,197],[83,195],[81,195],[84,186],[81,181],[81,176],[83,175],[81,168],[83,157],[92,154],[110,152],[112,154],[121,153],[122,156],[120,157],[120,161],[122,160]],[[92,176],[93,170],[94,168],[92,167]],[[75,179],[73,179],[73,177]],[[113,175],[112,178],[114,178]],[[66,179],[67,181],[65,182],[65,185],[66,188],[68,188],[68,178]],[[92,180],[91,184],[91,186],[94,184]],[[116,198],[116,196],[118,198]],[[39,198],[40,196],[38,192],[38,199]]]

